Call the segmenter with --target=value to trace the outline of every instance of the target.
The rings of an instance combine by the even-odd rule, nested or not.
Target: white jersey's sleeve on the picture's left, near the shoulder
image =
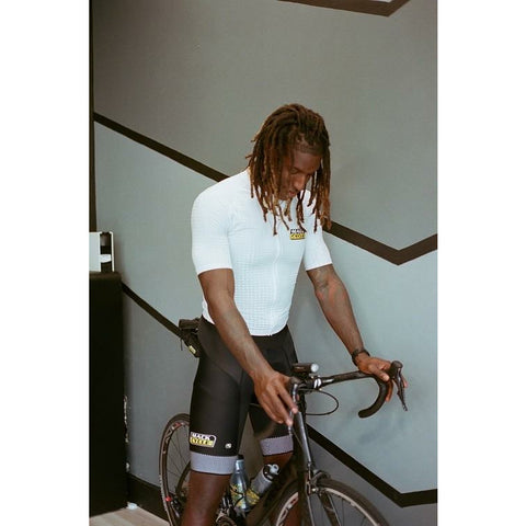
[[[210,186],[192,207],[192,260],[201,274],[215,268],[231,268],[228,243],[229,206]]]

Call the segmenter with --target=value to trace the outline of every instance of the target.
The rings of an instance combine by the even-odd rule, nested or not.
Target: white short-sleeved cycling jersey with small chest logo
[[[245,170],[202,192],[192,208],[192,259],[197,274],[215,268],[231,268],[235,301],[252,335],[281,331],[288,320],[299,265],[311,270],[330,264],[322,228],[315,232],[310,194],[304,196],[302,232],[296,218],[296,199],[290,205],[288,228],[274,218],[266,221],[258,198],[250,196]],[[285,202],[283,203],[285,206]],[[203,316],[214,322],[206,300]]]

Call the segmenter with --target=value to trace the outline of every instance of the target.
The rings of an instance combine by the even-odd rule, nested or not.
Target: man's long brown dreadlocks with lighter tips
[[[310,199],[308,206],[315,203],[315,231],[318,221],[330,228],[330,181],[331,158],[329,151],[329,134],[323,117],[300,104],[286,104],[272,113],[258,132],[252,142],[254,147],[249,159],[251,195],[258,197],[263,209],[263,218],[271,213],[274,217],[274,235],[277,233],[276,221],[279,217],[287,225],[285,217],[290,217],[290,201],[285,210],[279,204],[279,188],[285,158],[291,157],[295,148],[308,145],[309,151],[321,156],[321,165],[310,181]],[[302,199],[305,192],[298,194],[296,215],[298,226],[304,228]]]

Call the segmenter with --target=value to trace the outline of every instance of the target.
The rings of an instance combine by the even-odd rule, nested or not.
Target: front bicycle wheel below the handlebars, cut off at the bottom
[[[324,478],[318,480],[317,489],[317,492],[308,496],[315,526],[389,526],[381,513],[367,499],[343,482]],[[322,500],[328,503],[325,510]],[[272,526],[283,526],[288,513],[297,503],[298,490],[291,484],[285,490]],[[331,517],[331,513],[335,514],[335,517]]]

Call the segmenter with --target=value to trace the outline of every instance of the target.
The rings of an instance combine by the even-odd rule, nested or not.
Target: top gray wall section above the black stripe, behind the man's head
[[[286,102],[331,134],[334,220],[436,232],[436,2],[389,18],[277,0],[94,0],[95,111],[216,170]]]

